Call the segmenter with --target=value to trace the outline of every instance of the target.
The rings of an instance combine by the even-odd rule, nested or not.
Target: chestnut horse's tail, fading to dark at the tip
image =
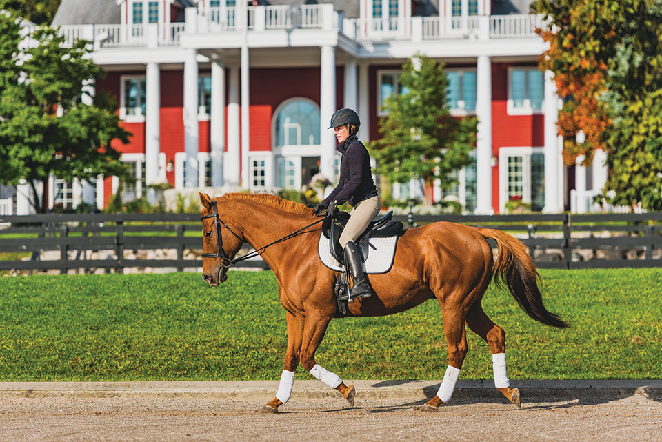
[[[479,230],[483,237],[496,241],[496,259],[492,267],[496,285],[501,288],[506,285],[515,301],[532,319],[552,327],[569,327],[559,315],[550,312],[543,305],[539,289],[541,277],[526,246],[500,230]]]

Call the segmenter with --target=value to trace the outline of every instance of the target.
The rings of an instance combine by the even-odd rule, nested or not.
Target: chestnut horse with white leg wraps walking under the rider
[[[276,396],[261,412],[278,412],[290,399],[294,371],[299,363],[314,377],[337,390],[354,405],[356,390],[315,360],[331,319],[337,312],[336,272],[317,254],[321,224],[312,209],[267,194],[200,193],[203,222],[203,281],[218,286],[228,279],[228,268],[243,245],[250,244],[276,275],[281,305],[287,319],[288,344]],[[496,257],[487,239],[496,242]],[[529,317],[556,328],[566,328],[549,312],[539,290],[541,277],[521,241],[499,230],[437,222],[403,230],[397,240],[392,268],[368,275],[370,297],[348,303],[346,316],[395,314],[428,299],[441,306],[448,344],[448,367],[439,391],[422,411],[438,411],[448,403],[468,352],[465,323],[492,351],[495,387],[520,407],[519,390],[510,388],[505,364],[505,332],[483,311],[481,300],[494,279],[506,287]]]

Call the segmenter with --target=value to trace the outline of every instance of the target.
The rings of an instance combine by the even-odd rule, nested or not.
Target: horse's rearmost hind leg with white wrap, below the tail
[[[474,303],[467,315],[469,328],[481,336],[490,345],[492,350],[492,370],[494,371],[494,386],[503,393],[508,400],[521,407],[519,390],[510,388],[510,380],[505,367],[505,332],[496,325],[483,311],[480,302]]]

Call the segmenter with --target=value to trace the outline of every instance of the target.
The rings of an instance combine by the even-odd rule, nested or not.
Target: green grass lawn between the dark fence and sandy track
[[[662,379],[662,269],[542,270],[568,330],[536,323],[490,288],[511,379]],[[0,277],[0,381],[279,379],[285,310],[271,272]],[[468,332],[461,379],[492,379]],[[441,379],[436,301],[391,317],[334,319],[317,361],[343,379]],[[299,379],[312,379],[299,368]]]

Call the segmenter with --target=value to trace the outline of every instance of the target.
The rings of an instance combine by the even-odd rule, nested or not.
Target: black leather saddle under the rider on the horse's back
[[[322,234],[329,239],[331,256],[339,263],[344,262],[343,248],[341,248],[340,235],[350,219],[348,212],[338,212],[335,217],[327,218],[322,222]],[[368,238],[387,238],[400,234],[403,224],[400,221],[393,221],[393,211],[391,210],[383,217],[370,221],[368,227],[357,238],[357,243],[364,241],[368,243]],[[369,246],[370,243],[368,243]]]

